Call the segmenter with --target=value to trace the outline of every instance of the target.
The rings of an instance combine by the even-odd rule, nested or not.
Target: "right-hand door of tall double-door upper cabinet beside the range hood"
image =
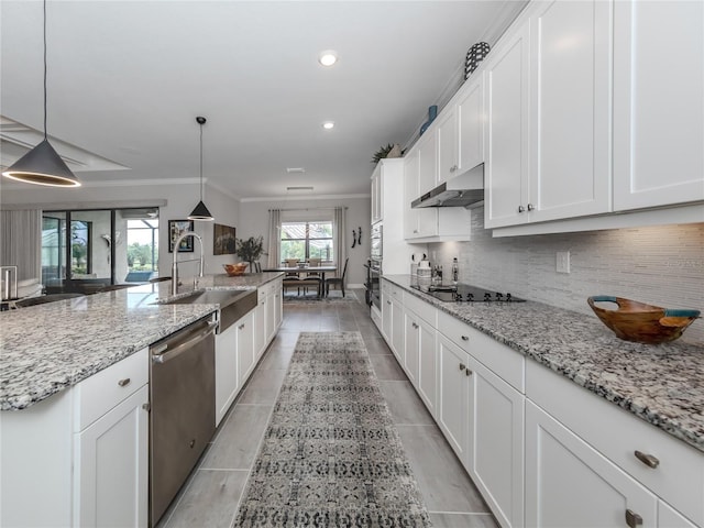
[[[610,1],[553,1],[530,16],[531,222],[610,207]]]

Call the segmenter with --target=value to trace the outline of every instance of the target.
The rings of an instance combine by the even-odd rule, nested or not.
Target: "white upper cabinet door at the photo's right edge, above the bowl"
[[[704,200],[704,3],[616,2],[614,209]]]

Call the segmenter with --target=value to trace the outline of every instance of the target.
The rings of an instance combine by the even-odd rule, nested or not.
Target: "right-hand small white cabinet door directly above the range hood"
[[[465,91],[458,98],[458,170],[484,163],[484,74],[468,79]]]

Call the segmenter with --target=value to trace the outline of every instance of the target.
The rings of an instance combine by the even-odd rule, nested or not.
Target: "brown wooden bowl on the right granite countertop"
[[[700,310],[670,310],[623,297],[596,295],[586,299],[596,317],[610,328],[617,338],[637,343],[657,344],[674,341],[700,317]],[[610,310],[596,302],[615,302]]]

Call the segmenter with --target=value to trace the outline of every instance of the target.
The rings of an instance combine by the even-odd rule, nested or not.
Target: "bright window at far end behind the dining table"
[[[282,222],[282,262],[286,258],[334,260],[331,221]]]

